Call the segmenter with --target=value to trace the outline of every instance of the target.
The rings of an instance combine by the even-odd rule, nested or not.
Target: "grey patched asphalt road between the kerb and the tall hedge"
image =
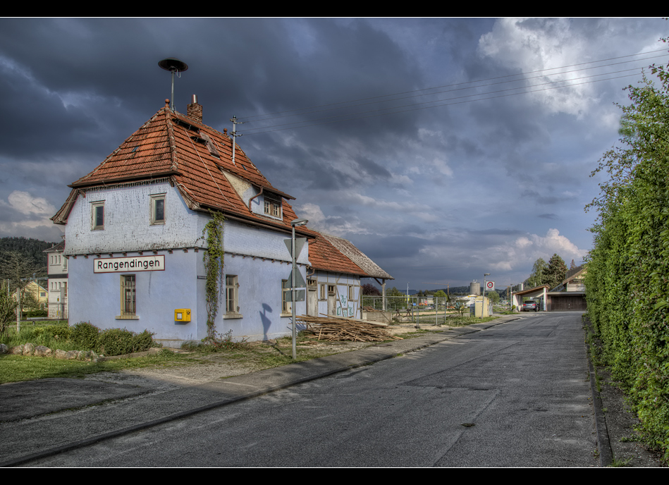
[[[580,313],[416,352],[29,466],[594,467]]]

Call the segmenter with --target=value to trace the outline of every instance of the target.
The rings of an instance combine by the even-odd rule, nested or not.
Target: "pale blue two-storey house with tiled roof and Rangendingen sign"
[[[284,240],[296,219],[288,204],[293,197],[274,188],[238,146],[233,159],[226,131],[204,125],[197,102],[185,116],[166,100],[70,185],[52,218],[66,226],[70,323],[147,329],[165,343],[207,336],[203,231],[211,213],[220,212],[224,289],[216,331],[251,340],[290,333],[283,281],[291,270]],[[319,237],[305,226],[295,232]],[[309,253],[305,245],[297,259],[305,279]],[[355,287],[355,280],[346,284]],[[307,302],[296,305],[298,315],[306,313]]]

